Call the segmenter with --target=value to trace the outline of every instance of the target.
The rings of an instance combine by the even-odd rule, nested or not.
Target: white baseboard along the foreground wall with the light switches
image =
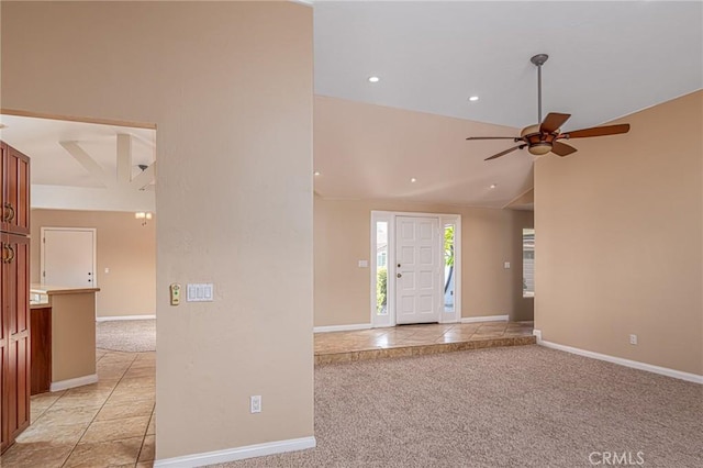
[[[154,467],[191,468],[205,465],[225,464],[245,458],[264,457],[266,455],[283,454],[286,452],[304,450],[316,446],[315,437],[291,438],[288,441],[268,442],[266,444],[247,445],[227,448],[225,450],[208,452],[204,454],[187,455],[183,457],[155,460]]]

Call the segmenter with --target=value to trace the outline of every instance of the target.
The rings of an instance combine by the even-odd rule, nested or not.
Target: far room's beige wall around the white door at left
[[[154,221],[143,226],[134,213],[116,211],[32,210],[31,216],[32,282],[40,282],[42,227],[92,227],[97,230],[98,316],[156,313]]]

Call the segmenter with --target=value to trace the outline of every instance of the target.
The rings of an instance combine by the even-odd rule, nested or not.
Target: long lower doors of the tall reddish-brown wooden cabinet
[[[10,441],[30,425],[30,239],[5,234],[2,249],[3,301],[10,317],[7,417]]]

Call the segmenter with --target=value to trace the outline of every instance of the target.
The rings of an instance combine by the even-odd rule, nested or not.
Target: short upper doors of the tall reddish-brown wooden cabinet
[[[2,231],[30,234],[30,158],[2,146]]]

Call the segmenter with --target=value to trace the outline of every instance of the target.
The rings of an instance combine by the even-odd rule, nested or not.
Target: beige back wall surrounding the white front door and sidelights
[[[532,299],[522,297],[522,229],[533,226],[531,211],[320,197],[314,207],[315,326],[370,322],[371,269],[358,260],[375,260],[372,210],[460,214],[461,315],[532,320]]]

